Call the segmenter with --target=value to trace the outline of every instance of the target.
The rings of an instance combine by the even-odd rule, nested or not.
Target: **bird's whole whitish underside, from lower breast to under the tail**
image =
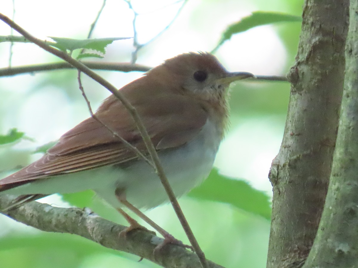
[[[220,138],[220,133],[208,120],[198,136],[190,142],[176,149],[159,152],[160,162],[176,197],[187,193],[208,176]],[[3,193],[53,194],[93,189],[113,207],[120,207],[115,196],[116,188],[124,189],[127,200],[137,208],[149,209],[168,202],[158,175],[143,160],[125,169],[108,166],[40,179]]]

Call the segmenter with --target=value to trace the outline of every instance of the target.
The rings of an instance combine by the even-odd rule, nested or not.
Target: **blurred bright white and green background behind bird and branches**
[[[15,0],[15,21],[38,38],[84,39],[103,1]],[[172,4],[174,3],[174,4]],[[158,34],[175,16],[182,1],[132,1],[140,14],[139,43]],[[162,35],[144,46],[137,63],[149,66],[188,51],[211,51],[228,25],[254,11],[301,16],[303,0],[189,0]],[[3,0],[0,12],[12,17],[13,1]],[[133,36],[133,12],[125,1],[107,0],[93,38]],[[294,64],[299,22],[259,26],[233,35],[215,53],[230,71],[257,75],[285,75]],[[0,35],[10,28],[0,22]],[[12,65],[59,61],[33,44],[15,44]],[[130,61],[132,39],[115,41],[103,60]],[[0,68],[9,65],[9,43],[0,43]],[[142,75],[98,71],[120,88]],[[83,86],[95,109],[109,92],[83,77]],[[284,131],[289,83],[248,82],[231,86],[231,125],[209,179],[179,199],[208,259],[225,267],[265,267],[270,232],[271,184],[267,178]],[[23,139],[0,145],[0,178],[41,154],[37,147],[58,139],[89,116],[78,90],[75,70],[49,71],[0,78],[0,134],[12,128]],[[92,192],[53,195],[42,202],[58,206],[90,207],[97,214],[127,224]],[[176,238],[188,243],[170,205],[146,213]],[[145,224],[144,224],[145,225]],[[146,226],[146,225],[145,225]],[[115,252],[84,238],[44,233],[0,215],[0,267],[158,267],[147,260]]]

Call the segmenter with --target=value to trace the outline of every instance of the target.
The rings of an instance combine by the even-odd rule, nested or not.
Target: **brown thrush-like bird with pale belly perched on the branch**
[[[213,167],[228,125],[229,84],[253,77],[227,71],[210,53],[190,52],[119,89],[139,114],[176,197],[202,183]],[[122,207],[151,209],[168,196],[153,167],[123,140],[149,156],[134,119],[112,94],[39,160],[0,180],[0,194],[20,196],[3,211],[50,194],[92,189],[137,228]]]

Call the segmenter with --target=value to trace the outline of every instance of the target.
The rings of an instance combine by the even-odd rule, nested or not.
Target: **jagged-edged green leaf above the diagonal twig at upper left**
[[[97,39],[71,39],[71,38],[61,38],[61,37],[52,37],[56,44],[53,46],[61,50],[73,51],[75,49],[93,49],[99,51],[103,54],[106,53],[106,46],[111,44],[115,40],[128,39],[129,37],[118,37],[118,38],[97,38]]]

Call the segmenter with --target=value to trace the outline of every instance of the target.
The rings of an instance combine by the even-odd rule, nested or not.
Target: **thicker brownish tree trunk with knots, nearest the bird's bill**
[[[344,81],[348,0],[306,0],[280,152],[268,268],[301,267],[316,236],[328,188]]]

